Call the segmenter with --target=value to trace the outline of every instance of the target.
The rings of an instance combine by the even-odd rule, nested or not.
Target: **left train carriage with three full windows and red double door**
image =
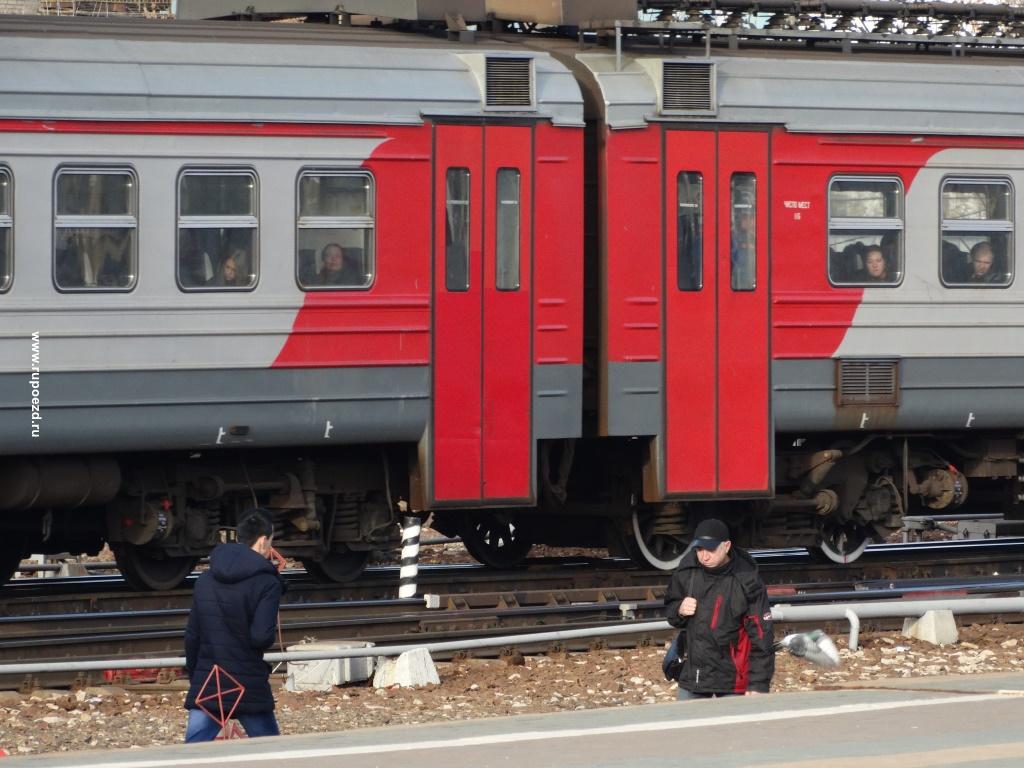
[[[583,103],[521,46],[2,23],[0,553],[329,580],[580,435]]]

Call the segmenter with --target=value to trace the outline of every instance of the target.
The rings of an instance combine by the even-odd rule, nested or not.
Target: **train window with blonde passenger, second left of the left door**
[[[185,169],[178,176],[178,286],[182,291],[252,289],[257,261],[256,174]]]

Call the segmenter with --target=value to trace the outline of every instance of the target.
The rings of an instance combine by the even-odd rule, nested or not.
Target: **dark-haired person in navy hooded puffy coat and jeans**
[[[210,741],[220,726],[196,705],[196,697],[214,690],[203,685],[214,665],[245,686],[234,718],[249,736],[276,736],[270,667],[263,651],[273,645],[278,609],[285,583],[268,559],[273,517],[252,510],[237,528],[238,543],[221,544],[210,555],[210,569],[196,582],[188,626],[185,629],[185,669],[188,673],[188,725],[185,741]],[[222,678],[222,686],[231,687]],[[237,696],[224,696],[224,713]],[[204,702],[217,712],[215,700]]]

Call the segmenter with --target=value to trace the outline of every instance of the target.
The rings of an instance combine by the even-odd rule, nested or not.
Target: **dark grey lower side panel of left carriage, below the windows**
[[[8,373],[0,435],[14,455],[415,442],[429,378],[425,366],[45,373],[34,421],[31,378]]]

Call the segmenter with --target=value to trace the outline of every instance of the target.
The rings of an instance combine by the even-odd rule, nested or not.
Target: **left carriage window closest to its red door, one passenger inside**
[[[374,179],[364,171],[303,171],[298,195],[299,287],[366,290],[374,282]]]

